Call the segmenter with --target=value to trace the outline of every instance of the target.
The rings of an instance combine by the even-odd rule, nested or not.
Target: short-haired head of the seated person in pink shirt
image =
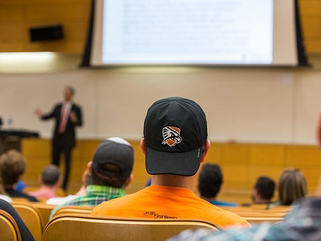
[[[59,187],[61,184],[59,168],[49,165],[42,170],[39,177],[40,183],[47,187]]]

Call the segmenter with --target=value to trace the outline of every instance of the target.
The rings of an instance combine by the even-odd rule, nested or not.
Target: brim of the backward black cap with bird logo
[[[146,145],[145,164],[150,175],[193,176],[202,159],[202,146],[189,152],[159,152]]]

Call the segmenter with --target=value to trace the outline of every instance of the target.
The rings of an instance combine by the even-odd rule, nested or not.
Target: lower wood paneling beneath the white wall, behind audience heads
[[[74,193],[80,187],[81,175],[99,143],[100,140],[78,141],[78,146],[73,152],[69,192]],[[135,151],[134,180],[129,185],[127,193],[143,188],[149,178],[145,171],[145,161],[139,141],[130,143]],[[50,164],[50,140],[24,140],[22,151],[29,164],[24,179],[28,185],[37,186],[38,175]],[[277,182],[285,167],[302,170],[306,176],[309,192],[312,194],[321,170],[321,162],[318,161],[320,159],[321,152],[313,146],[212,143],[206,162],[217,163],[222,167],[224,184],[219,198],[249,203],[251,189],[256,179],[264,175],[270,176]],[[62,165],[62,171],[63,168]]]

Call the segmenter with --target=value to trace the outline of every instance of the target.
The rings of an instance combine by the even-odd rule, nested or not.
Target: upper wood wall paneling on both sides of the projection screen
[[[0,51],[82,53],[90,15],[90,0],[2,0]],[[303,38],[309,53],[321,53],[321,1],[299,0]],[[62,41],[30,43],[32,26],[62,24]]]

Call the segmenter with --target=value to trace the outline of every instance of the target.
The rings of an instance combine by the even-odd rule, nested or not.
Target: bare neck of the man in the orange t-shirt
[[[183,187],[193,191],[194,176],[184,177],[184,176],[178,176],[178,175],[152,175],[151,185]]]

